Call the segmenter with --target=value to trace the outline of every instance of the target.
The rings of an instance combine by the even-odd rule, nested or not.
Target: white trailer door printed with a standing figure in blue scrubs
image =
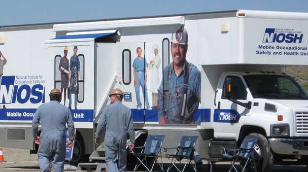
[[[144,123],[145,109],[151,106],[148,103],[147,82],[144,82],[147,77],[147,71],[144,72],[144,69],[147,69],[148,63],[145,58],[145,42],[117,42],[117,44],[119,66],[116,88],[123,90],[123,104],[131,108],[134,122]],[[140,50],[141,57],[144,58],[141,60],[137,58],[137,51]],[[136,61],[135,65],[134,61]],[[134,83],[135,80],[136,83]]]

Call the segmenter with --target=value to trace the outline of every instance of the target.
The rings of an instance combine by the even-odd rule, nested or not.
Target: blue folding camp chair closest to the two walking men
[[[143,165],[148,172],[152,172],[153,167],[156,162],[158,162],[158,154],[160,153],[161,163],[158,163],[162,171],[164,171],[163,158],[162,158],[162,144],[165,136],[162,135],[148,135],[145,140],[144,146],[135,147],[134,150],[141,150],[139,152],[132,152],[132,154],[137,158],[137,164],[134,168],[134,172],[138,169],[140,165]],[[150,164],[147,163],[147,158],[152,157],[153,160]],[[149,165],[149,166],[148,166]]]

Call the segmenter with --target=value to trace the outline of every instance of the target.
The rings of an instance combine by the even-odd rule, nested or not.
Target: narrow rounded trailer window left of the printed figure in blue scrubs
[[[125,85],[131,84],[132,81],[132,53],[129,49],[124,49],[122,52],[122,82]]]

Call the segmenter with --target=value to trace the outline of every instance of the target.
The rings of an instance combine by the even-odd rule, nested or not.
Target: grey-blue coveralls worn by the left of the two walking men
[[[53,171],[63,172],[66,154],[66,124],[71,141],[75,138],[75,128],[68,107],[58,101],[40,105],[32,120],[33,136],[38,136],[38,125],[41,122],[41,133],[37,152],[39,167],[42,172],[49,170],[53,160]]]

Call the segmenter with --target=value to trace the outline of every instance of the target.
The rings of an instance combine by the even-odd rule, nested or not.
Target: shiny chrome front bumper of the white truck
[[[283,155],[308,155],[308,139],[269,138],[272,150]]]

